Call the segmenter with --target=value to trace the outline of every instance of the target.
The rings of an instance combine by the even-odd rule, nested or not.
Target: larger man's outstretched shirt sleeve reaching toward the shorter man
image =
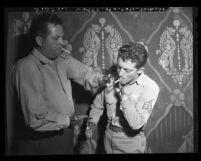
[[[97,90],[100,85],[99,72],[94,71],[91,67],[81,63],[75,58],[69,56],[67,63],[67,76],[80,85],[83,85],[86,90]]]

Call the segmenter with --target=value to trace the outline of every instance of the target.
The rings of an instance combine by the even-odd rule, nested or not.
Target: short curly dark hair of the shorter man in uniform
[[[136,63],[136,68],[143,67],[147,62],[148,53],[141,43],[129,42],[119,48],[118,57],[123,61],[130,60]]]

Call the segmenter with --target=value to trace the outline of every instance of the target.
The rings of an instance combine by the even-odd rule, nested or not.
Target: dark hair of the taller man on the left
[[[33,17],[29,35],[34,46],[37,46],[35,42],[36,36],[47,36],[49,32],[48,24],[62,25],[62,21],[55,13],[51,12],[41,13]]]

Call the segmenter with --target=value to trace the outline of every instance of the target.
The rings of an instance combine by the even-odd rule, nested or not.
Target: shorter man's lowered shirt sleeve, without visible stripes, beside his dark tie
[[[91,109],[89,112],[89,118],[95,124],[98,123],[101,115],[103,114],[104,110],[104,100],[103,100],[103,92],[96,95],[93,104],[91,105]]]

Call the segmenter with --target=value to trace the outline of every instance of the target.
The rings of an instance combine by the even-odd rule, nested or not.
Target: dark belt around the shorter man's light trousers
[[[127,127],[127,128],[121,128],[121,127],[118,127],[118,126],[114,126],[112,124],[109,125],[109,129],[113,132],[124,132],[126,135],[128,136],[136,136],[138,135],[140,132],[143,132],[144,129],[143,129],[143,126],[140,128],[140,129],[137,129],[137,130],[133,130],[131,129],[130,127]]]

